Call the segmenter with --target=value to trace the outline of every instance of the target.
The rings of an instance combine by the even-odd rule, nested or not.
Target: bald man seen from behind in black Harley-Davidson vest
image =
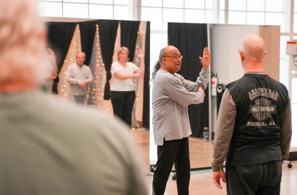
[[[292,134],[288,91],[264,72],[265,43],[259,35],[244,37],[238,52],[245,74],[229,83],[222,96],[213,182],[220,189],[220,178],[227,182],[228,195],[277,195]]]

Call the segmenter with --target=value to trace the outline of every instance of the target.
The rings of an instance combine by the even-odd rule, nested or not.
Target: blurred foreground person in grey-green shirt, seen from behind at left
[[[34,0],[0,1],[0,194],[147,194],[123,122],[38,91],[36,11]]]

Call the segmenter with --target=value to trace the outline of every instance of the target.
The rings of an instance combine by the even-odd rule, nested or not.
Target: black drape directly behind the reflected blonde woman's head
[[[134,59],[134,51],[137,40],[137,32],[139,30],[140,21],[121,20],[121,47],[125,46],[129,49],[129,61]]]

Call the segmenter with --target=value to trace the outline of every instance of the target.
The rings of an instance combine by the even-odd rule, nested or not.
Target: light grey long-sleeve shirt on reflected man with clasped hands
[[[91,69],[89,66],[83,64],[82,66],[79,66],[78,64],[74,63],[68,66],[67,72],[66,72],[66,80],[70,84],[69,85],[69,95],[74,96],[85,96],[87,95],[87,86],[82,89],[78,85],[80,81],[85,80],[87,84],[90,84],[93,82],[93,75],[91,73]]]

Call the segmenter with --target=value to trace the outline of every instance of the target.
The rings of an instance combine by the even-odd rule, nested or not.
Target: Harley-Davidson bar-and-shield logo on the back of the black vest
[[[271,116],[271,113],[276,113],[276,105],[270,105],[271,101],[263,97],[255,100],[255,105],[249,106],[249,113],[257,118],[259,121],[263,121]]]

